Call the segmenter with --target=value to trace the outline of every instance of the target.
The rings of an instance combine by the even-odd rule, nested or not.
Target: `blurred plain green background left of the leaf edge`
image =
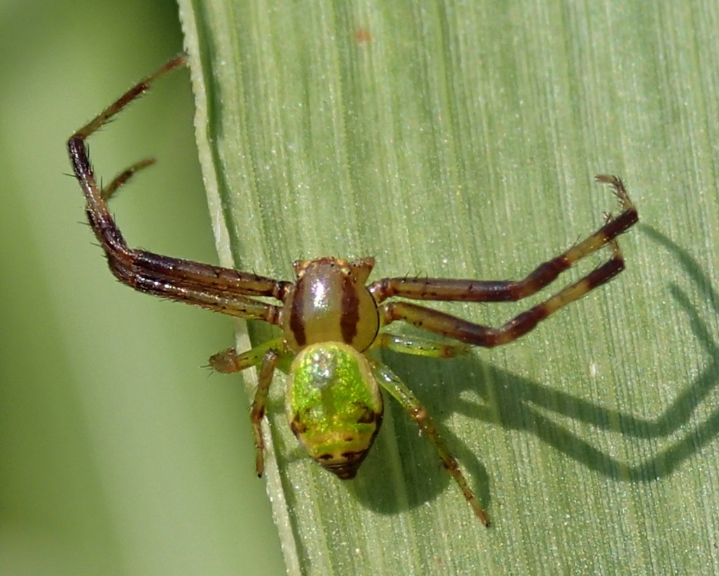
[[[0,573],[280,574],[228,319],[119,285],[68,136],[182,50],[171,0],[0,2]],[[91,140],[134,246],[217,262],[182,70]]]

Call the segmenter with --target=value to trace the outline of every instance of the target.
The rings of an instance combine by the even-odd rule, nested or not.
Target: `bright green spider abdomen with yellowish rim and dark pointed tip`
[[[322,342],[298,352],[290,373],[287,414],[295,436],[327,470],[354,477],[384,410],[370,362],[348,344]]]

